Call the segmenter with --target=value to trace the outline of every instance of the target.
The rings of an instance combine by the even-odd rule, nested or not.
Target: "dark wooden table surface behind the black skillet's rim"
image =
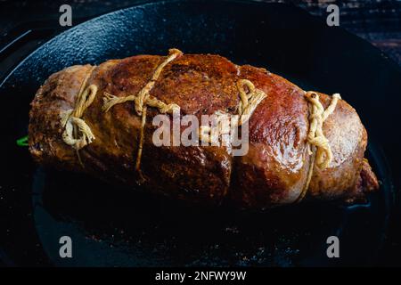
[[[295,4],[314,15],[325,16],[328,4],[340,7],[340,26],[370,41],[401,64],[401,0],[260,0]],[[0,44],[16,25],[32,20],[51,20],[59,25],[59,7],[70,4],[74,18],[96,15],[133,5],[143,0],[0,0]],[[1,45],[0,45],[1,46]]]

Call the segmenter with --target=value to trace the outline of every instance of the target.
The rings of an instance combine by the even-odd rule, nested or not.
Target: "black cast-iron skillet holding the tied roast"
[[[16,146],[27,134],[29,102],[53,72],[170,47],[219,53],[304,89],[339,92],[370,134],[381,191],[352,207],[200,208],[36,167]],[[397,65],[372,45],[284,4],[142,4],[71,28],[30,54],[0,88],[0,257],[8,265],[374,265],[397,192],[390,169],[399,169],[392,150],[400,79]],[[59,256],[63,235],[73,240],[73,258]],[[337,259],[326,256],[331,235],[340,238]]]

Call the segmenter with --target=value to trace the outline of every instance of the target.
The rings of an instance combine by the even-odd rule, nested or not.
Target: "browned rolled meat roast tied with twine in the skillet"
[[[176,199],[241,208],[363,199],[378,189],[367,134],[338,94],[305,92],[266,69],[213,54],[136,55],[50,76],[31,103],[38,164]],[[248,124],[248,151],[157,146],[152,118],[225,113]],[[180,131],[182,131],[180,129]],[[201,138],[201,137],[200,137]]]

